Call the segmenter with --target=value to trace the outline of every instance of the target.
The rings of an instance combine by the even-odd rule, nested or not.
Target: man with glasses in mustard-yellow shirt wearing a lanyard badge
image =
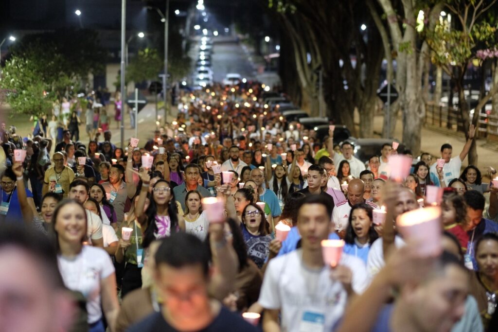
[[[61,152],[55,152],[52,161],[54,166],[49,167],[45,172],[41,193],[45,195],[53,192],[66,198],[69,193],[69,184],[75,177],[74,172],[70,167],[64,166],[64,155]]]

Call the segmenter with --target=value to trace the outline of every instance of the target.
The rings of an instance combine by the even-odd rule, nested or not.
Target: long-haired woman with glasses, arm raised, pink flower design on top
[[[150,186],[150,175],[147,170],[143,169],[140,172],[140,179],[142,186],[136,207],[136,218],[144,229],[142,245],[147,248],[155,239],[169,236],[179,231],[180,227],[184,230],[185,221],[178,217],[173,190],[169,182],[163,179],[158,180],[152,186],[152,200],[144,213],[143,207]]]

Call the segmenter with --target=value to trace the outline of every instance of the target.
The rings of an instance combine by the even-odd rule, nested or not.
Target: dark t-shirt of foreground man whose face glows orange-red
[[[242,317],[222,307],[215,320],[205,329],[198,332],[257,332],[260,331],[246,322]],[[153,313],[141,322],[133,325],[127,332],[178,332],[169,325],[161,313]]]

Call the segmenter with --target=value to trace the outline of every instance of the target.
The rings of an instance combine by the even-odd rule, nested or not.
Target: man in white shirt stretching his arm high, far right
[[[465,157],[467,157],[467,154],[469,153],[475,134],[476,134],[476,127],[473,124],[471,124],[468,131],[469,138],[465,142],[465,145],[462,148],[460,154],[454,158],[451,157],[453,153],[453,147],[450,144],[441,145],[441,159],[444,159],[443,170],[441,174],[438,173],[437,162],[432,164],[430,168],[430,172],[434,174],[441,182],[441,187],[443,187],[443,185],[447,186],[451,180],[460,177],[460,169],[462,167],[462,161],[464,161]]]

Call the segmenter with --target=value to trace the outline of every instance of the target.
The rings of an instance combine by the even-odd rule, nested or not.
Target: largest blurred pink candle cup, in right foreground
[[[441,248],[441,208],[430,207],[402,214],[396,226],[406,241],[418,242],[421,255],[438,255]]]

